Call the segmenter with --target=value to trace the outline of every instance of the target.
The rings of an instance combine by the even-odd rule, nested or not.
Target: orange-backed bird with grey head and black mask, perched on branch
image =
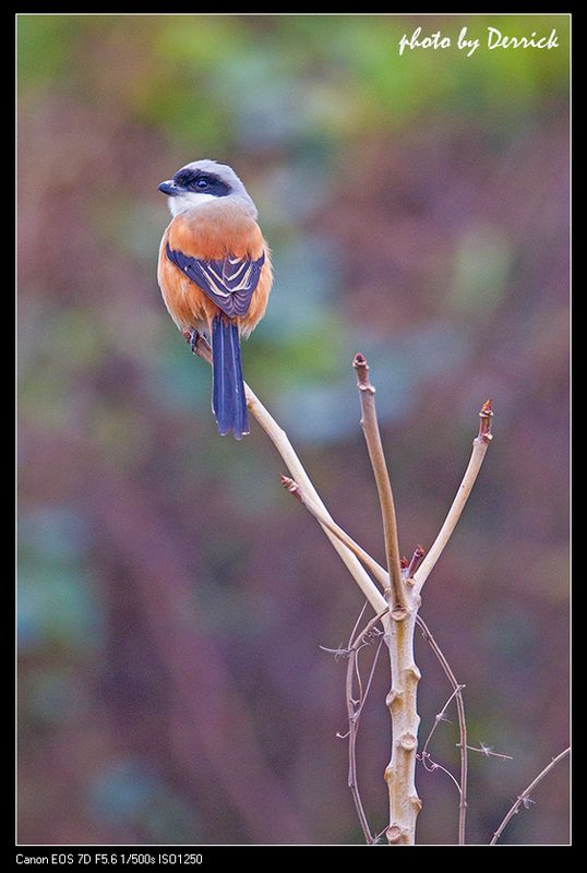
[[[209,158],[185,164],[158,190],[172,216],[159,247],[163,299],[192,350],[207,333],[218,432],[241,440],[249,420],[240,340],[265,314],[273,285],[257,210],[235,170]]]

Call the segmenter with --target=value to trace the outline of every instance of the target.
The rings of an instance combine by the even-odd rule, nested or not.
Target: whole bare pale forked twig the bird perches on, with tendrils
[[[212,363],[211,348],[203,336],[195,332],[185,334],[190,342],[192,351],[199,357]],[[272,418],[265,407],[261,404],[256,395],[245,385],[247,406],[251,415],[256,419],[261,428],[267,433],[275,447],[284,459],[292,479],[281,477],[283,485],[290,490],[303,503],[308,511],[314,515],[319,524],[324,529],[326,536],[346,564],[349,573],[357,585],[361,588],[375,617],[369,622],[366,631],[359,634],[352,643],[349,641],[347,651],[336,650],[335,654],[345,654],[349,659],[347,668],[347,707],[349,715],[349,785],[354,792],[355,803],[359,813],[361,827],[368,842],[378,841],[381,835],[371,836],[364,810],[357,789],[356,770],[356,739],[357,727],[360,718],[364,698],[371,685],[374,671],[374,662],[371,668],[369,681],[364,691],[362,690],[360,673],[358,670],[358,653],[368,642],[368,634],[378,622],[381,621],[384,630],[382,639],[390,649],[392,665],[392,689],[387,695],[387,706],[392,717],[393,731],[393,752],[392,760],[385,770],[390,793],[390,824],[385,829],[387,841],[391,845],[412,845],[415,841],[416,818],[421,809],[421,802],[416,791],[414,772],[416,765],[418,714],[416,706],[417,686],[420,678],[419,670],[414,661],[414,627],[416,622],[422,629],[424,637],[432,646],[439,658],[448,680],[451,681],[456,699],[459,729],[460,729],[460,782],[458,784],[460,793],[459,806],[459,844],[465,841],[465,816],[466,816],[466,780],[467,780],[467,740],[465,710],[462,696],[462,686],[456,682],[446,659],[442,655],[432,634],[418,617],[420,605],[420,591],[430,572],[439,560],[448,539],[463,513],[471,488],[479,474],[483,462],[488,444],[491,440],[491,402],[483,404],[480,416],[480,427],[477,438],[474,440],[474,447],[469,465],[463,478],[460,488],[457,492],[453,505],[451,506],[446,519],[430,549],[426,559],[423,549],[419,547],[410,564],[406,562],[405,573],[399,558],[399,547],[397,538],[397,522],[393,492],[390,481],[390,474],[385,463],[381,433],[379,430],[374,387],[369,380],[369,367],[362,355],[357,355],[354,360],[357,372],[357,383],[361,404],[361,424],[363,428],[369,457],[373,468],[373,475],[378,488],[383,521],[385,555],[387,572],[371,555],[362,549],[351,537],[346,534],[331,517],[326,507],[315,491],[310,478],[308,477],[300,459],[296,455],[291,443],[285,431]],[[367,572],[368,571],[368,572]],[[371,575],[369,575],[371,574]],[[383,587],[384,596],[379,591],[373,578]],[[354,630],[355,633],[356,629]],[[352,639],[352,634],[351,634]],[[380,641],[381,645],[381,641]],[[378,648],[379,654],[379,648]],[[375,658],[376,659],[376,658]],[[359,682],[359,701],[355,701],[352,695],[354,680]],[[446,704],[447,705],[447,704]],[[446,707],[445,707],[446,708]],[[444,710],[443,710],[444,711]],[[438,722],[436,722],[438,723]],[[428,743],[424,745],[422,761],[424,766],[430,765],[428,755]],[[434,768],[440,765],[434,764]],[[441,769],[444,769],[441,767]],[[454,777],[451,777],[454,779]],[[456,780],[454,780],[456,782]],[[503,825],[505,826],[505,825]]]

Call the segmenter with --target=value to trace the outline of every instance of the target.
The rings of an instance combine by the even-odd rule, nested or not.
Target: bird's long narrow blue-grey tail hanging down
[[[212,323],[212,408],[218,433],[241,440],[249,433],[238,325],[218,315]]]

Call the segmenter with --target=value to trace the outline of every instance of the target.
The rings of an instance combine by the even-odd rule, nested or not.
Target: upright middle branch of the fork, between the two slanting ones
[[[397,522],[395,517],[394,495],[390,474],[383,453],[381,433],[379,430],[378,414],[375,409],[375,388],[369,379],[369,364],[363,355],[358,352],[355,356],[352,366],[357,371],[357,386],[361,402],[361,424],[367,441],[367,449],[375,477],[379,501],[381,505],[381,516],[383,519],[383,534],[385,537],[385,555],[387,560],[387,571],[392,587],[392,609],[399,607],[407,609],[406,593],[402,579],[402,566],[399,561],[399,546],[397,542]]]

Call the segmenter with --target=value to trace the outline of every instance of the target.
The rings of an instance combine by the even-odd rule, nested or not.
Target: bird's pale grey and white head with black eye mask
[[[169,211],[176,216],[205,204],[226,202],[230,198],[256,218],[256,207],[235,170],[215,160],[194,160],[158,186],[169,198]]]

